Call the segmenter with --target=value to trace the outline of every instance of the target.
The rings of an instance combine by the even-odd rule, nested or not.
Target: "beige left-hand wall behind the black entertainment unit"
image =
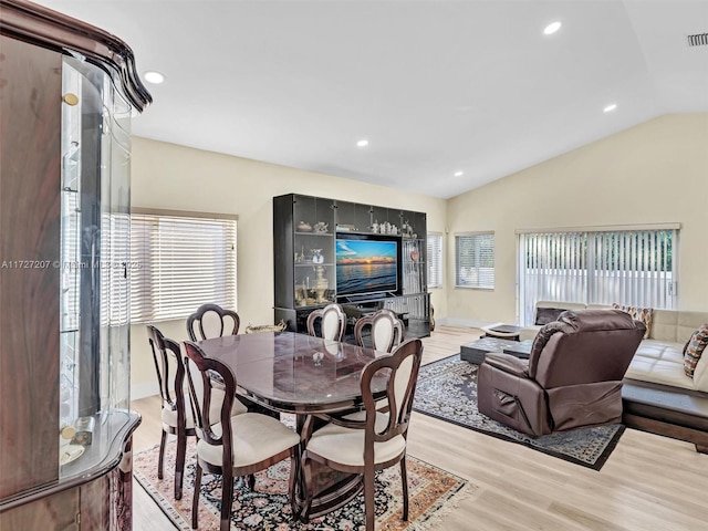
[[[134,207],[239,216],[237,310],[242,327],[273,321],[273,196],[298,192],[424,211],[430,231],[442,232],[446,222],[444,199],[146,138],[133,138],[132,176]],[[444,291],[431,290],[431,300],[436,316],[444,316]],[[176,341],[187,336],[183,321],[159,327]],[[145,326],[131,332],[132,394],[145,396],[157,391],[155,368]]]

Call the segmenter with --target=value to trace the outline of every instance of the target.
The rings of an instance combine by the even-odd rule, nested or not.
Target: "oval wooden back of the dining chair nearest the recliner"
[[[379,356],[364,367],[361,387],[366,409],[365,451],[371,448],[373,452],[374,442],[383,442],[397,435],[406,436],[421,358],[423,342],[415,339],[402,343],[389,355]],[[386,394],[383,398],[374,396],[372,389],[372,382],[377,376],[386,377]],[[388,406],[388,424],[382,431],[376,431],[376,408],[381,407],[382,400]]]

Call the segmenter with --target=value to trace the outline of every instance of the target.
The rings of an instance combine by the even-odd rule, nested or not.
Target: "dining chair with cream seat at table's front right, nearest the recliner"
[[[308,418],[303,428],[305,448],[302,452],[305,521],[309,520],[313,496],[312,461],[342,472],[363,475],[366,531],[374,530],[374,473],[399,462],[403,520],[408,520],[406,439],[421,356],[420,340],[402,343],[391,354],[371,361],[362,371],[360,384],[364,410],[344,417],[317,415],[327,424],[314,433],[314,417]],[[386,382],[384,399],[388,403],[387,413],[376,409],[378,393],[375,391],[378,389],[372,388],[373,382],[378,388],[381,377]]]

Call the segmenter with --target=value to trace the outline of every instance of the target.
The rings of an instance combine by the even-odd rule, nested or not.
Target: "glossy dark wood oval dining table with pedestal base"
[[[310,415],[362,407],[361,372],[377,355],[386,354],[293,332],[230,335],[200,341],[198,345],[207,357],[222,362],[233,372],[239,394],[271,410],[294,414],[295,429],[302,437]],[[385,376],[375,378],[375,395],[383,395],[385,385]],[[298,519],[303,519],[308,509],[300,462],[305,444],[306,440],[301,441],[291,475],[291,504]],[[310,518],[343,506],[362,490],[358,475],[315,467],[313,476],[316,487],[308,511]]]

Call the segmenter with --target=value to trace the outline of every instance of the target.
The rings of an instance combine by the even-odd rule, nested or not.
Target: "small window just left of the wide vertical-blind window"
[[[455,287],[494,288],[494,235],[455,236]]]

